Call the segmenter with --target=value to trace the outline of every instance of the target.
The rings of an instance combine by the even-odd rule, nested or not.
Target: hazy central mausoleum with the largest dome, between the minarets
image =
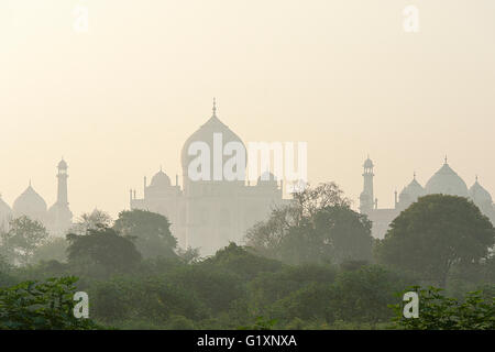
[[[229,241],[239,242],[249,228],[268,217],[274,206],[287,201],[283,199],[282,182],[278,183],[273,174],[260,177],[256,185],[244,180],[213,180],[213,177],[212,180],[191,180],[188,166],[194,156],[188,155],[188,148],[194,142],[205,142],[213,151],[213,133],[222,134],[223,144],[231,141],[243,143],[218,119],[213,102],[211,118],[183,146],[183,188],[178,185],[178,176],[172,185],[161,168],[150,185],[144,178],[143,198],[138,199],[135,190],[130,191],[131,209],[150,210],[167,217],[179,245],[200,248],[204,255],[213,254]],[[227,160],[222,156],[222,166]],[[210,162],[210,172],[213,173],[213,160]]]

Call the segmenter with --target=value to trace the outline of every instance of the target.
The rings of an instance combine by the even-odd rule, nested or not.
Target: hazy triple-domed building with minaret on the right
[[[495,223],[495,207],[490,193],[480,185],[477,176],[473,186],[468,189],[465,182],[447,163],[447,157],[444,164],[431,176],[425,187],[418,183],[415,173],[413,180],[404,187],[398,198],[397,191],[395,191],[395,206],[389,209],[380,209],[378,200],[373,198],[374,164],[370,157],[364,162],[363,168],[364,187],[360,196],[360,211],[367,215],[369,219],[373,221],[372,234],[374,238],[382,239],[391,222],[419,197],[433,194],[469,198]]]

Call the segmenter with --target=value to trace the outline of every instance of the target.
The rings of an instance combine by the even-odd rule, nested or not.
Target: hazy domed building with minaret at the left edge
[[[12,209],[0,198],[0,228],[3,231],[8,230],[11,219],[26,216],[42,222],[53,235],[65,234],[73,221],[67,200],[67,163],[62,160],[57,168],[57,200],[50,210],[43,197],[34,190],[31,180],[28,188],[14,200]]]

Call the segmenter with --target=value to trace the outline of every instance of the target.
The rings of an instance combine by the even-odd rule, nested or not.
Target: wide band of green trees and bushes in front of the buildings
[[[422,197],[384,240],[374,240],[370,220],[334,184],[322,184],[274,209],[244,245],[231,243],[202,258],[198,249],[177,249],[168,220],[148,211],[122,211],[116,221],[101,211],[84,215],[58,240],[40,226],[21,218],[1,233],[0,287],[77,276],[90,318],[103,327],[493,329],[486,317],[493,317],[495,296],[495,230],[465,198]],[[393,306],[413,285],[442,287],[459,301],[414,288],[440,304],[444,309],[433,310],[446,317],[405,322]],[[464,300],[471,290],[480,293]],[[0,289],[0,315],[6,293]],[[476,323],[468,314],[473,309]],[[466,314],[453,318],[458,310]]]

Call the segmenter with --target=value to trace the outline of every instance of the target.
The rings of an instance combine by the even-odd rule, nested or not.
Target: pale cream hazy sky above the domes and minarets
[[[73,29],[86,6],[89,32]],[[403,10],[420,11],[405,33]],[[211,114],[245,142],[306,141],[312,183],[378,206],[450,165],[495,195],[493,0],[2,0],[0,191],[113,216]]]

